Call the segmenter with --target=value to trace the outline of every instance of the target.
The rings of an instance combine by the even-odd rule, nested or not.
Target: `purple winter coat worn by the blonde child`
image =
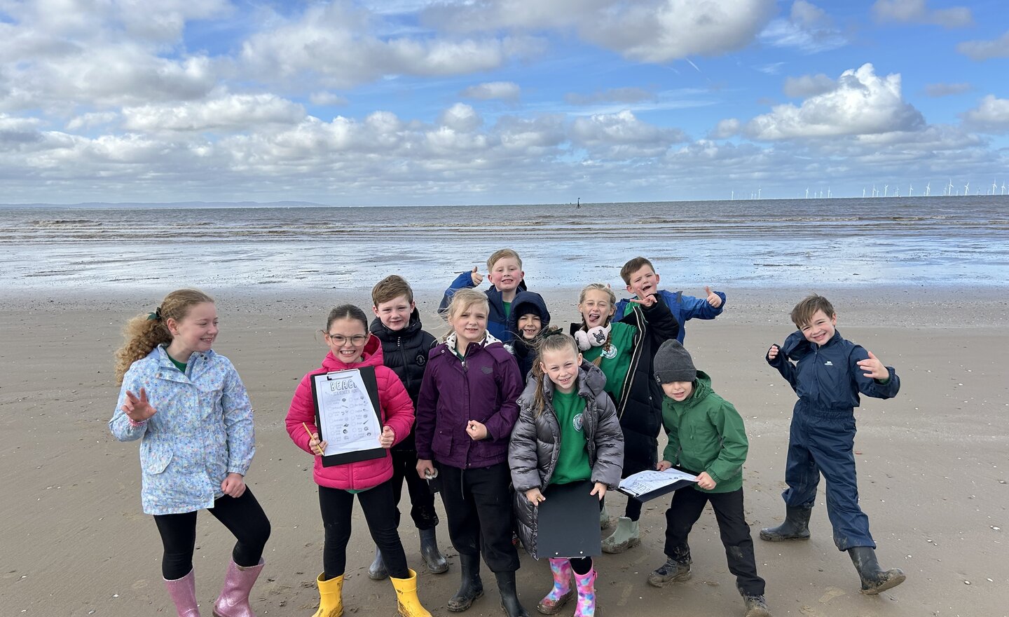
[[[516,401],[523,389],[519,365],[489,333],[483,344],[469,344],[465,363],[454,347],[452,335],[428,354],[417,399],[417,457],[459,469],[504,462],[519,417]],[[486,439],[470,438],[469,420],[487,427]]]

